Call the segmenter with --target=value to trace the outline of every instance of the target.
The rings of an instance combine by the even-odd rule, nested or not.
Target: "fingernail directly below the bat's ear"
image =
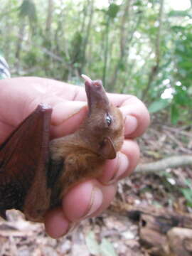
[[[108,185],[118,181],[118,179],[124,174],[125,171],[127,171],[129,167],[129,159],[127,156],[121,152],[118,153],[118,159],[117,159],[117,171],[114,172],[114,175],[112,178],[110,178],[110,181],[107,182]]]

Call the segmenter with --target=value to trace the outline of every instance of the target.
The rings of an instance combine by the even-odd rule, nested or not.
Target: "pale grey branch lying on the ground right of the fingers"
[[[164,171],[167,168],[178,168],[181,166],[188,166],[188,165],[192,165],[191,155],[171,156],[156,162],[152,162],[148,164],[139,164],[135,169],[135,171],[141,172],[141,173],[150,173],[150,172]]]

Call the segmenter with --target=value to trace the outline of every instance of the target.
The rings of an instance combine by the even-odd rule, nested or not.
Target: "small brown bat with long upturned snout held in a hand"
[[[121,112],[110,104],[102,81],[82,78],[88,114],[78,131],[50,141],[52,109],[38,105],[0,146],[1,217],[15,208],[26,219],[42,222],[70,187],[100,176],[105,160],[121,149]]]

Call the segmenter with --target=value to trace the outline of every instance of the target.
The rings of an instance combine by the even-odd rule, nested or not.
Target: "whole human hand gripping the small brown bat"
[[[53,107],[52,139],[75,132],[87,114],[83,87],[44,78],[11,78],[0,80],[0,91],[0,144],[39,103]],[[80,220],[105,210],[114,198],[117,181],[131,174],[139,161],[139,147],[134,138],[148,127],[149,113],[137,97],[108,96],[124,115],[122,150],[116,159],[106,161],[100,178],[74,186],[64,196],[62,206],[46,214],[46,231],[53,238],[65,235]]]

